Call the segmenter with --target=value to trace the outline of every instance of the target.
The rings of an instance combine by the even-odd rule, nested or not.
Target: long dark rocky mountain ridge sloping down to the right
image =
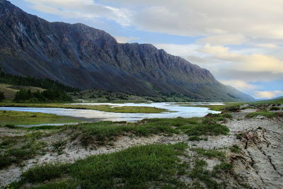
[[[81,89],[146,96],[181,93],[199,101],[253,101],[207,70],[154,45],[118,43],[81,23],[50,23],[0,0],[0,67]]]

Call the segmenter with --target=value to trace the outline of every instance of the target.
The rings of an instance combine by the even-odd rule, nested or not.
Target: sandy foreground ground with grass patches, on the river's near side
[[[226,116],[224,114],[223,117],[221,117],[222,115],[216,117],[208,115],[207,118],[142,120],[137,124],[131,123],[129,125],[125,125],[124,122],[116,122],[115,125],[120,128],[119,131],[116,126],[112,127],[113,122],[106,122],[108,125],[112,125],[108,130],[101,130],[101,127],[106,124],[105,122],[102,125],[91,127],[83,125],[81,130],[74,126],[64,129],[49,129],[47,127],[45,130],[0,127],[1,151],[6,151],[1,153],[1,161],[11,158],[8,156],[13,156],[13,154],[8,154],[8,151],[11,150],[10,147],[18,146],[24,150],[33,149],[29,151],[33,155],[19,155],[16,158],[13,157],[16,159],[15,161],[1,163],[0,183],[4,187],[9,183],[19,181],[12,183],[12,188],[19,186],[21,188],[30,188],[31,186],[49,188],[54,185],[60,185],[62,188],[77,188],[78,186],[87,188],[87,185],[91,185],[93,181],[91,178],[84,181],[82,179],[88,176],[78,176],[78,174],[80,168],[89,164],[88,161],[96,159],[97,162],[108,162],[112,156],[116,156],[117,161],[124,162],[127,159],[123,159],[123,156],[127,157],[134,151],[132,159],[135,163],[129,160],[129,162],[117,164],[127,167],[128,164],[134,166],[137,161],[141,161],[141,165],[138,166],[140,169],[135,169],[129,176],[120,170],[115,175],[118,178],[109,176],[109,178],[100,179],[103,176],[96,175],[98,176],[96,182],[101,182],[100,184],[105,185],[106,188],[109,185],[105,181],[113,181],[117,184],[116,188],[135,188],[131,181],[141,182],[144,188],[149,185],[161,188],[166,188],[166,186],[173,188],[283,188],[282,110],[277,111],[277,115],[270,118],[263,115],[250,116],[256,114],[256,111],[257,109],[247,108]],[[214,126],[205,127],[204,130],[197,130],[197,132],[193,130],[194,125],[200,127],[204,122]],[[228,127],[229,133],[219,124]],[[139,129],[139,126],[142,130]],[[93,130],[93,127],[96,127],[96,130]],[[91,132],[91,134],[86,135],[86,132]],[[98,137],[93,138],[96,135]],[[105,137],[108,138],[105,139]],[[30,147],[21,147],[21,144],[29,142],[33,143],[30,144]],[[162,163],[156,159],[160,156],[162,160],[163,153],[165,153],[164,156],[168,156],[165,149],[172,150],[170,152],[172,161],[168,160],[169,157],[162,160],[168,161],[168,166],[172,164],[172,167],[169,167],[172,170],[170,173],[168,172],[166,178],[163,178],[161,173],[157,173],[151,176],[154,180],[151,180],[152,178],[142,181],[134,180],[137,178],[146,179],[146,176],[141,176],[140,172],[150,171],[152,168],[151,166],[149,166],[150,168],[144,167],[149,162],[138,159],[138,155],[136,155],[136,153],[141,153],[140,156],[144,156],[142,153],[145,153],[144,151],[147,149],[141,150],[142,147],[149,147],[150,153],[164,149],[158,154],[154,154],[153,159],[151,159],[151,155],[148,155],[151,163],[156,161],[156,164],[152,163],[154,164],[153,173],[155,169],[162,171],[162,167],[160,170],[158,169],[158,165]],[[5,153],[8,156],[5,157]],[[173,155],[174,153],[176,154]],[[98,154],[107,155],[92,156]],[[87,158],[88,156],[91,158]],[[35,165],[44,164],[47,167],[36,166],[34,168]],[[185,168],[180,168],[180,165]],[[69,172],[57,173],[54,176],[47,171],[48,166],[54,166],[52,170],[67,166]],[[29,169],[30,171],[28,171]],[[76,171],[74,172],[74,170]],[[95,170],[88,171],[98,174]],[[100,174],[103,174],[103,171],[107,173],[107,171],[115,172],[117,170],[115,167],[110,167],[107,170],[101,168],[100,171]],[[136,173],[135,171],[140,172]],[[21,176],[23,172],[25,173]],[[33,174],[40,174],[42,177],[37,180],[30,179]],[[134,177],[136,174],[137,177]],[[167,174],[166,171],[164,174]],[[167,178],[170,179],[167,180]],[[117,181],[117,179],[121,179],[121,181]]]

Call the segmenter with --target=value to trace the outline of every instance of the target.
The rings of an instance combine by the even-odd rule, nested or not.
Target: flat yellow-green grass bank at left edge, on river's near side
[[[78,122],[75,118],[47,113],[0,110],[0,125],[37,125],[45,123]]]

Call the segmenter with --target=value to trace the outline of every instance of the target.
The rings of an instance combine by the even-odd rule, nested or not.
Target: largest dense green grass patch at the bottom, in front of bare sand
[[[23,173],[11,188],[24,183],[40,183],[39,188],[187,188],[178,179],[185,174],[178,156],[186,148],[183,143],[151,144],[89,156],[74,164],[37,166]]]

